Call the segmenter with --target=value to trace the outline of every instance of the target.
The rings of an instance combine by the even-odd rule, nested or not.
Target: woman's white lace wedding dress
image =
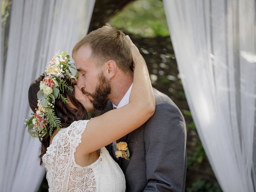
[[[121,168],[102,147],[100,157],[89,166],[79,166],[74,153],[81,142],[88,120],[73,122],[53,138],[42,160],[46,168],[49,192],[124,192]]]

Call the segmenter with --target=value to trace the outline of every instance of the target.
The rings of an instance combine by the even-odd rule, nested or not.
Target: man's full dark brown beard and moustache
[[[95,109],[103,110],[106,108],[108,103],[108,95],[111,92],[110,82],[104,77],[103,73],[99,74],[99,84],[95,88],[94,93],[86,92],[82,90],[83,94],[90,95],[93,100],[92,105]]]

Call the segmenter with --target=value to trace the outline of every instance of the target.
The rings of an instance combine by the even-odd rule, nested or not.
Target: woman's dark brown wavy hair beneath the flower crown
[[[40,90],[40,81],[42,81],[44,76],[40,76],[37,80],[32,82],[32,84],[29,87],[28,90],[28,102],[30,105],[30,108],[35,113],[35,108],[38,108],[37,106],[37,92]],[[67,84],[69,86],[72,86],[74,88],[74,85],[70,80],[65,77],[64,80],[66,80]],[[70,124],[74,121],[78,120],[85,120],[88,118],[88,114],[85,110],[85,108],[82,106],[82,104],[76,100],[75,98],[75,92],[70,91],[68,89],[64,89],[64,92],[60,90],[60,94],[64,97],[68,97],[69,101],[76,106],[77,109],[71,108],[68,104],[65,104],[62,102],[61,99],[56,99],[54,104],[54,111],[58,118],[60,118],[61,121],[61,128],[66,128],[70,126]],[[56,128],[54,128],[56,130]],[[53,132],[54,132],[53,130]],[[46,153],[47,147],[50,145],[50,134],[46,133],[46,135],[42,138],[42,147],[41,147],[41,154],[39,156],[40,158],[40,165],[42,165],[42,156]]]

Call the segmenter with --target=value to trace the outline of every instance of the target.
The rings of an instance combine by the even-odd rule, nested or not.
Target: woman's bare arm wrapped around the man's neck
[[[135,64],[134,82],[130,94],[129,104],[106,112],[93,118],[87,123],[82,134],[82,148],[84,154],[122,138],[144,124],[155,110],[155,98],[148,74],[146,62],[138,48],[128,38]]]

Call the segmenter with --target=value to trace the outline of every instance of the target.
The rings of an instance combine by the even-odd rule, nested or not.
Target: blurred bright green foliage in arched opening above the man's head
[[[110,23],[118,29],[142,37],[169,36],[168,25],[160,0],[140,0],[118,12]]]

